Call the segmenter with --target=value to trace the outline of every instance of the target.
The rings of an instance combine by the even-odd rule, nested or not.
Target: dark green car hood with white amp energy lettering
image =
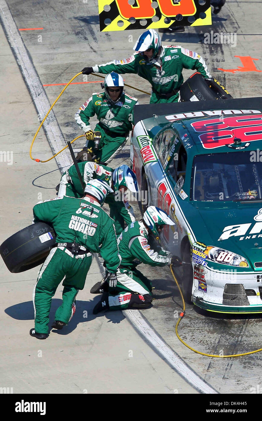
[[[188,221],[196,240],[240,254],[251,265],[262,262],[262,202],[224,205],[191,202]]]

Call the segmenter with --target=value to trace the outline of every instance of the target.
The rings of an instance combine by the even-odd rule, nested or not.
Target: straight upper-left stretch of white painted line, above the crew
[[[27,53],[24,42],[5,0],[0,0],[0,20],[2,22],[3,30],[11,46],[13,54],[16,57],[17,64],[19,65],[21,73],[29,89],[34,106],[36,107],[37,113],[42,120],[50,108],[50,102],[42,86],[42,83],[40,82],[39,76],[37,75],[37,71],[34,68],[34,64],[29,57],[29,54]],[[32,117],[35,118],[35,116]],[[38,122],[36,121],[36,123]],[[59,152],[66,146],[66,144],[53,110],[48,115],[48,118],[45,120],[43,126],[52,152],[54,154]],[[37,127],[38,124],[36,124],[36,130]],[[58,167],[62,168],[71,165],[72,162],[69,156],[65,152],[61,152],[61,154],[55,158]]]

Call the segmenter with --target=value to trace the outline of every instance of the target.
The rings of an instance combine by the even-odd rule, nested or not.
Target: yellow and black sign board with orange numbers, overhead
[[[152,7],[152,3],[153,6]],[[98,0],[101,32],[211,25],[210,0]],[[157,6],[156,6],[157,5]],[[155,7],[156,6],[156,7]],[[180,15],[180,20],[175,17]]]

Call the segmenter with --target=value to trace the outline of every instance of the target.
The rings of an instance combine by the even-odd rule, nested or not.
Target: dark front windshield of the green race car
[[[254,201],[262,198],[262,162],[254,152],[197,155],[191,200]]]

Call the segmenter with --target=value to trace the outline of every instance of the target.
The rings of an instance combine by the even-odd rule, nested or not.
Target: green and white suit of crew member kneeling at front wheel
[[[143,308],[152,302],[151,281],[136,266],[140,263],[165,266],[171,263],[171,258],[160,247],[151,249],[148,244],[151,237],[143,221],[132,222],[119,235],[117,244],[121,264],[116,272],[116,287],[109,288],[110,310]]]

